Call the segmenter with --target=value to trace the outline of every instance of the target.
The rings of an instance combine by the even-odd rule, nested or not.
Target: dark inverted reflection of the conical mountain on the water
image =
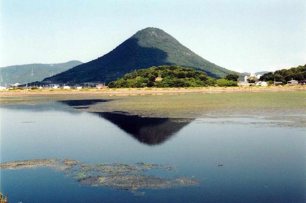
[[[63,104],[73,106],[76,109],[88,108],[98,102],[108,102],[108,99],[67,100],[60,101]],[[119,128],[132,135],[141,143],[158,145],[164,143],[176,132],[189,124],[194,119],[180,118],[150,118],[126,115],[124,112],[92,112],[109,120]]]

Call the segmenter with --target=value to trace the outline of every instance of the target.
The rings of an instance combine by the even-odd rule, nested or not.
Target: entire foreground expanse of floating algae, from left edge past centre
[[[104,186],[116,190],[128,190],[135,195],[143,195],[138,189],[171,189],[177,187],[193,187],[199,183],[197,179],[174,176],[173,178],[157,177],[153,175],[140,174],[149,170],[160,172],[177,170],[172,165],[158,165],[154,163],[138,162],[134,165],[124,163],[99,163],[93,165],[80,165],[81,162],[71,159],[32,159],[1,163],[1,169],[24,169],[36,167],[50,167],[55,170],[64,171],[67,177],[73,177],[83,185]],[[73,168],[73,169],[72,169]],[[67,175],[67,174],[72,175]]]

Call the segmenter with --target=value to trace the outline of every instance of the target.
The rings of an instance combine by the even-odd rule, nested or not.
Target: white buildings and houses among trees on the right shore
[[[244,82],[238,82],[238,85],[239,86],[250,86],[252,84],[254,86],[268,86],[267,82],[259,80],[260,76],[262,76],[262,75],[255,74],[255,73],[248,74],[248,75],[244,76]],[[249,83],[248,78],[250,78],[250,77],[255,77],[259,81],[256,81],[255,83]],[[283,82],[274,82],[273,83],[273,85],[283,85],[283,84],[284,84]],[[286,85],[306,85],[306,80],[298,81],[298,80],[293,80],[291,78],[291,80],[288,81]]]

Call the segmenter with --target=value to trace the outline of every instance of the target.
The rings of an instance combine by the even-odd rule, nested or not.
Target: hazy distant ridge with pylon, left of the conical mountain
[[[41,81],[46,77],[50,77],[50,74],[56,75],[62,73],[74,66],[80,65],[83,62],[69,61],[65,63],[33,63],[26,65],[6,66],[0,68],[1,73],[1,85],[7,84],[25,84],[35,81]],[[33,72],[32,72],[33,71]]]

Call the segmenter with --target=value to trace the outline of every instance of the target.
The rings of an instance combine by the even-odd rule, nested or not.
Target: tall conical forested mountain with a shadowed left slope
[[[172,64],[195,68],[215,78],[229,73],[242,76],[241,73],[222,68],[196,55],[163,30],[148,27],[138,31],[106,55],[45,78],[44,81],[107,83],[135,69]]]

